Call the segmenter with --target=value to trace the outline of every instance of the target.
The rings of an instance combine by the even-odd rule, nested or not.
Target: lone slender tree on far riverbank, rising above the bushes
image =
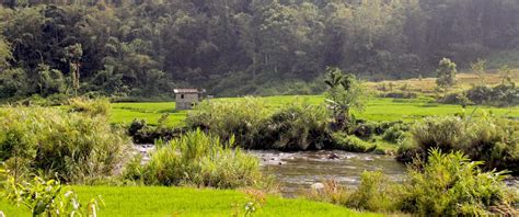
[[[338,68],[327,68],[326,73],[325,83],[328,85],[325,93],[326,103],[333,111],[334,127],[343,129],[355,119],[350,114],[351,108],[358,111],[365,108],[369,93],[351,73],[344,75]]]

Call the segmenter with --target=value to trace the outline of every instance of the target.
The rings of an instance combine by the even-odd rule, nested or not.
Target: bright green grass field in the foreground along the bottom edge
[[[197,190],[188,187],[152,186],[74,186],[82,202],[102,195],[106,206],[99,216],[232,216],[244,214],[251,199],[239,191]],[[31,216],[0,199],[0,210],[7,217]],[[341,206],[307,199],[287,199],[267,196],[266,203],[254,216],[377,216],[358,213]]]

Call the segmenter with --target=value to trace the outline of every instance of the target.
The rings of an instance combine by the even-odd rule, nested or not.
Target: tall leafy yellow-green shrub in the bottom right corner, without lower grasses
[[[461,152],[429,151],[427,162],[415,161],[404,182],[402,209],[431,216],[486,216],[492,206],[510,207],[503,173],[482,172]],[[514,215],[510,208],[509,215]]]

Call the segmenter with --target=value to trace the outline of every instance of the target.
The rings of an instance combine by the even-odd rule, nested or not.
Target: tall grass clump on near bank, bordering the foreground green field
[[[129,167],[127,179],[150,185],[197,185],[233,189],[260,184],[262,173],[255,157],[242,152],[233,139],[200,130],[186,133],[151,153],[146,165]]]

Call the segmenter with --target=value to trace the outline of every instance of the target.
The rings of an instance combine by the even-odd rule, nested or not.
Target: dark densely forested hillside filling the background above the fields
[[[417,77],[519,47],[518,0],[0,2],[0,98],[312,92],[327,66]]]

